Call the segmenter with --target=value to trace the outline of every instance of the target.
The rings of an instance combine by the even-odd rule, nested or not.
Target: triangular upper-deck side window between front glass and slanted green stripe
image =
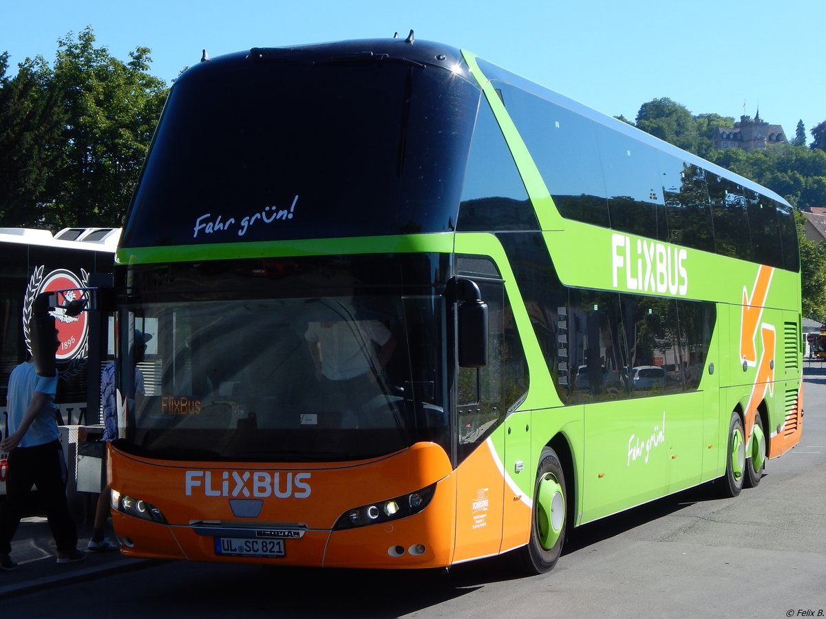
[[[539,229],[522,177],[484,97],[473,130],[456,229]]]

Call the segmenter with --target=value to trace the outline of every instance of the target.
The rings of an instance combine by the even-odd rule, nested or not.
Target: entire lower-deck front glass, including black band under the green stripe
[[[259,461],[355,460],[417,441],[447,447],[447,309],[437,290],[449,261],[399,253],[134,267],[119,304],[121,338],[132,322],[150,327],[157,382],[130,411],[122,447]],[[320,335],[326,328],[335,331]],[[394,344],[382,358],[387,332]],[[309,345],[322,338],[345,344],[373,378],[356,391],[358,381],[322,380]],[[126,355],[121,363],[131,366]],[[128,376],[123,393],[134,389]],[[299,413],[316,421],[308,427]]]

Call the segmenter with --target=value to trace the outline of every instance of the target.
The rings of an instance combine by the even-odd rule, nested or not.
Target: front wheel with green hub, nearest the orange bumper
[[[553,449],[539,456],[534,485],[534,510],[530,518],[530,541],[516,551],[522,571],[544,574],[557,565],[567,532],[568,499],[565,474]]]

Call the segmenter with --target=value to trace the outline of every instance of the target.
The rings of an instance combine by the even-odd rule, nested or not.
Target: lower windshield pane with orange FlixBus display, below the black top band
[[[126,451],[289,462],[354,461],[419,441],[446,447],[439,297],[212,300],[126,311],[135,309],[157,345],[138,366]]]

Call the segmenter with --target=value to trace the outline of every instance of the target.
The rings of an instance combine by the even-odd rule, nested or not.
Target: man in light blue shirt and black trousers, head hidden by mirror
[[[55,351],[59,346],[55,330]],[[22,517],[26,496],[35,485],[57,546],[58,563],[86,556],[78,550],[78,529],[66,500],[66,461],[55,418],[55,376],[38,376],[35,364],[24,361],[8,379],[8,436],[0,449],[8,452],[6,504],[0,516],[0,569],[15,569],[12,538]]]

